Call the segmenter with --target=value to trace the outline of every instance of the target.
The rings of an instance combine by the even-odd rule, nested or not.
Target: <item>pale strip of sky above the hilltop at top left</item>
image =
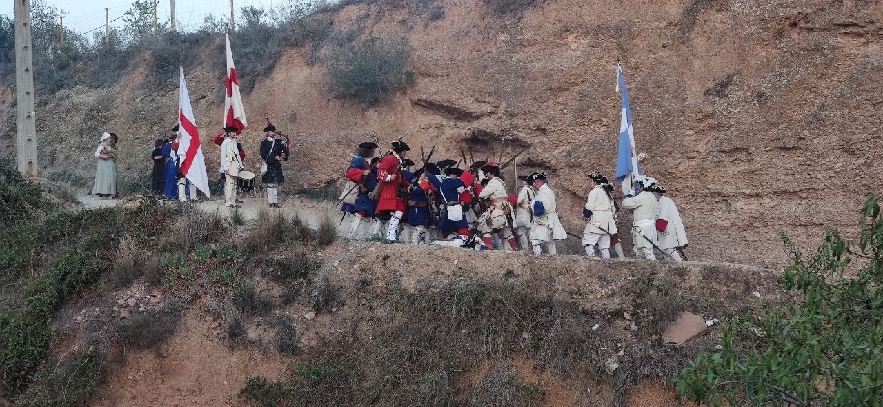
[[[288,3],[290,0],[234,0],[238,10],[245,5],[268,9],[274,5]],[[293,0],[299,1],[299,0]],[[132,0],[46,0],[46,3],[64,11],[64,27],[78,33],[86,33],[96,27],[104,26],[104,8],[108,8],[109,19],[117,19],[128,11]],[[14,16],[14,0],[0,0],[0,14],[12,18]],[[160,21],[170,17],[170,0],[159,0],[157,15]],[[195,29],[202,24],[208,14],[230,16],[230,0],[175,0],[175,13],[179,29]],[[114,26],[122,23],[117,19]]]

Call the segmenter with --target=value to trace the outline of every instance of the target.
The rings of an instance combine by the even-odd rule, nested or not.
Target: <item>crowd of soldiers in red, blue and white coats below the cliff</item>
[[[370,236],[388,242],[425,241],[513,252],[530,247],[534,254],[544,249],[556,254],[555,241],[568,236],[545,174],[518,177],[517,194],[509,194],[502,168],[494,162],[473,162],[461,169],[459,162],[442,160],[424,162],[415,170],[414,162],[406,158],[411,147],[404,141],[394,141],[381,156],[376,156],[377,149],[374,142],[359,144],[345,173],[340,204],[345,214],[352,215],[351,239],[362,238],[359,230],[367,223]],[[598,252],[608,259],[612,249],[617,257],[624,257],[616,228],[616,214],[623,207],[634,219],[636,257],[686,260],[680,214],[653,177],[635,177],[635,190],[625,195],[622,205],[611,195],[614,186],[607,177],[592,173],[589,182],[592,189],[583,210],[586,255]]]

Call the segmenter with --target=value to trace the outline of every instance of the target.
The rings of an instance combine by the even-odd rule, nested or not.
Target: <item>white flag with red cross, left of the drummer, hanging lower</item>
[[[190,94],[187,93],[187,83],[184,81],[184,67],[181,67],[180,96],[178,98],[177,127],[181,132],[181,140],[178,144],[178,152],[184,152],[184,161],[181,162],[181,172],[197,188],[210,196],[208,192],[208,174],[206,174],[206,160],[202,156],[200,143],[200,131],[196,128],[196,118],[193,117],[193,108],[190,105]],[[178,153],[180,155],[180,153]]]

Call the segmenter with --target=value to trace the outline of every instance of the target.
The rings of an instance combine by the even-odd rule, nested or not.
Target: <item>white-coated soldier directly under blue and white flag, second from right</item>
[[[653,245],[656,245],[656,213],[659,202],[653,192],[646,191],[655,185],[653,177],[638,176],[635,178],[635,189],[623,198],[623,207],[632,215],[631,237],[635,244],[635,257],[638,259],[656,260]]]

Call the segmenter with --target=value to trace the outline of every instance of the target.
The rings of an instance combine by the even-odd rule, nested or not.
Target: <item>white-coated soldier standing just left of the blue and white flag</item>
[[[610,258],[610,237],[616,233],[616,222],[613,217],[615,204],[613,197],[606,186],[609,184],[607,177],[597,172],[589,174],[592,190],[589,191],[588,200],[583,208],[583,217],[588,220],[583,230],[583,247],[585,255],[592,257],[595,254],[595,245],[604,259]]]

